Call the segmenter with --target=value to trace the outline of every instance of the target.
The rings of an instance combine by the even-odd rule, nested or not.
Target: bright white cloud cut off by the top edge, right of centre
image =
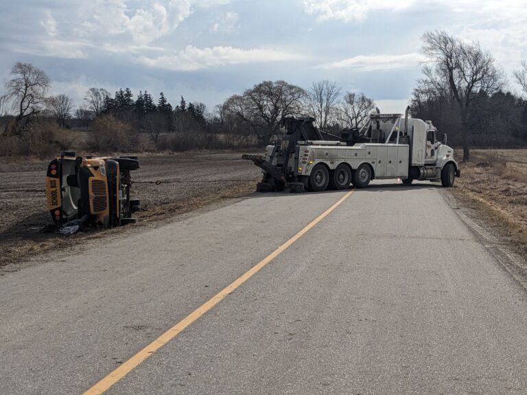
[[[417,0],[304,0],[304,10],[307,14],[316,15],[321,22],[362,22],[370,12],[404,10],[414,3]],[[383,14],[380,19],[387,17]]]

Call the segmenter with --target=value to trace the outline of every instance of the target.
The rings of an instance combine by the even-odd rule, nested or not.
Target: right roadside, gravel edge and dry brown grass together
[[[527,289],[527,149],[473,149],[443,197],[504,269]]]

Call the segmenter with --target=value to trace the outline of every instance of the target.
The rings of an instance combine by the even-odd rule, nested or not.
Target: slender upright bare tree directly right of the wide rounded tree
[[[331,118],[336,115],[340,87],[335,82],[323,80],[314,82],[307,93],[309,114],[316,121],[316,125],[326,130]]]

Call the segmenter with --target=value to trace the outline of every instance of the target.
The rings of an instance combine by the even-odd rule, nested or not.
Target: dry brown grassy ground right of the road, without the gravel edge
[[[473,149],[454,195],[527,253],[527,149]]]

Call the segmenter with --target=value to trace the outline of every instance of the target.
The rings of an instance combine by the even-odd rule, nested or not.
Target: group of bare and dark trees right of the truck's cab
[[[414,88],[415,117],[431,119],[452,136],[469,160],[470,147],[527,143],[527,64],[513,73],[522,94],[508,91],[506,75],[489,51],[444,30],[426,32],[422,51],[430,60]],[[524,95],[524,96],[522,96]]]

